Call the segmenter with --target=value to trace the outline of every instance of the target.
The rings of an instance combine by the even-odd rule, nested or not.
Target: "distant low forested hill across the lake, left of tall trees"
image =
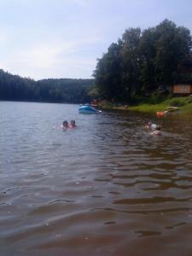
[[[21,78],[0,69],[0,100],[29,102],[90,102],[93,79]]]

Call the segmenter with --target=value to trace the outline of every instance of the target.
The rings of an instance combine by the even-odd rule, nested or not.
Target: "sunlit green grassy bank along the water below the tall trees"
[[[117,106],[115,104],[106,103],[102,108],[132,110],[144,113],[156,113],[157,111],[166,111],[168,107],[177,107],[183,114],[192,114],[192,96],[174,97],[160,103],[140,103],[135,106]]]

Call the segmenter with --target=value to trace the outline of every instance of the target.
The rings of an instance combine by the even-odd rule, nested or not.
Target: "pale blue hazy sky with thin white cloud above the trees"
[[[125,29],[189,28],[192,0],[0,0],[0,68],[31,79],[90,79]]]

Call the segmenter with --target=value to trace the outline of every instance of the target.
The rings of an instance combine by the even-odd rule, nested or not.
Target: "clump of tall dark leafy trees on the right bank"
[[[96,93],[114,102],[165,95],[175,83],[191,83],[192,40],[189,29],[163,20],[158,26],[127,29],[98,59]],[[189,68],[192,70],[191,68]]]

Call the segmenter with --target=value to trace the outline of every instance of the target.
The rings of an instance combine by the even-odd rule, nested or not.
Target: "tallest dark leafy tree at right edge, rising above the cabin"
[[[170,86],[177,66],[189,58],[192,46],[190,32],[183,26],[164,20],[156,26],[155,34],[155,80],[157,84]]]

